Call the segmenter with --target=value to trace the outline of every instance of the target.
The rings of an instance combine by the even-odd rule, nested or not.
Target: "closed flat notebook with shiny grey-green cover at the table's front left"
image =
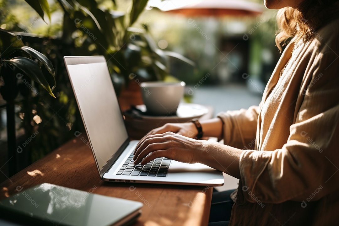
[[[131,225],[143,206],[141,202],[48,183],[21,190],[0,201],[0,225]]]

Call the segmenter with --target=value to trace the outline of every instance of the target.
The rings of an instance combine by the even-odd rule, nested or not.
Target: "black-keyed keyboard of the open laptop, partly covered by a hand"
[[[148,176],[148,177],[166,177],[171,159],[156,158],[145,165],[134,165],[133,154],[131,154],[125,163],[121,166],[117,175]]]

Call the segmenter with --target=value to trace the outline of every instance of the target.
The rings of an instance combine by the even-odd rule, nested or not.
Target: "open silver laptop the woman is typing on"
[[[133,164],[131,140],[103,56],[64,57],[100,178],[111,182],[221,186],[222,172],[206,165],[157,158]],[[169,116],[171,117],[171,116]]]

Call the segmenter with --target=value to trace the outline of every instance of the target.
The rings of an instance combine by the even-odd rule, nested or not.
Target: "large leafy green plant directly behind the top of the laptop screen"
[[[147,23],[132,27],[147,0],[133,0],[127,12],[117,11],[115,0],[106,1],[111,2],[110,7],[96,0],[57,1],[64,11],[62,40],[74,42],[76,55],[105,56],[113,81],[127,84],[131,74],[142,80],[162,80],[169,75],[169,57],[194,65],[179,54],[157,48]],[[41,11],[42,4],[31,6]]]

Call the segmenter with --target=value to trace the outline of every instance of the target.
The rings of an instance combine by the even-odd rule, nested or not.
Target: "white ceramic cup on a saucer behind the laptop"
[[[141,95],[147,113],[152,115],[175,114],[183,98],[185,82],[143,82]]]

